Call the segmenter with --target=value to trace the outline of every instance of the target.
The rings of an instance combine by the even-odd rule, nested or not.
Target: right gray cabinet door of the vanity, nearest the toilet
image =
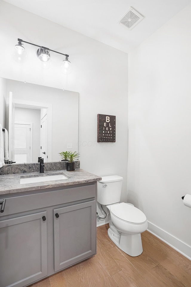
[[[96,201],[53,210],[55,272],[96,254]]]

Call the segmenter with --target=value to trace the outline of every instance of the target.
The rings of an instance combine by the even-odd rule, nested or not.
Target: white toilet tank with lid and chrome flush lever
[[[121,187],[123,178],[119,175],[103,176],[98,181],[97,201],[100,204],[108,205],[117,203],[121,198]]]

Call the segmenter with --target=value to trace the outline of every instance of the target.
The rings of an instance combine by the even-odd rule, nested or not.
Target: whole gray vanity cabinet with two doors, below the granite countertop
[[[96,190],[92,182],[4,196],[1,287],[28,286],[96,254]]]

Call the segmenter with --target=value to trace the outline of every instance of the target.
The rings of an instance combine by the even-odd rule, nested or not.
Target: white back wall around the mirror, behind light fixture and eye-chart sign
[[[73,30],[0,1],[0,77],[79,92],[79,152],[81,168],[97,175],[124,177],[127,198],[127,81],[128,55]],[[10,53],[17,38],[69,54],[73,72],[67,78],[56,65],[41,70],[36,48],[25,45],[21,67]],[[52,64],[61,56],[51,54]],[[116,116],[116,143],[97,143],[97,114]]]

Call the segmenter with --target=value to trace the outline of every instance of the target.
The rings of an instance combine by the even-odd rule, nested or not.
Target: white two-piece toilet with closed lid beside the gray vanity
[[[97,201],[109,210],[110,239],[130,256],[143,252],[141,233],[147,227],[145,214],[130,203],[119,203],[123,178],[119,175],[103,176],[98,181]]]

